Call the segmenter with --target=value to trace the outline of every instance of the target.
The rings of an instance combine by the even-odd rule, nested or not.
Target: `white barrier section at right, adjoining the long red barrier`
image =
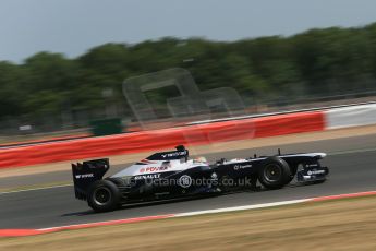
[[[376,104],[326,110],[326,129],[376,124]]]

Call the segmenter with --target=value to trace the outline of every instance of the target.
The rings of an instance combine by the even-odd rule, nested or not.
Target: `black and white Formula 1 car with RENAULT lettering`
[[[108,158],[72,164],[75,198],[86,200],[96,212],[122,204],[180,196],[220,194],[233,189],[280,189],[296,176],[298,182],[323,182],[329,170],[319,164],[324,153],[225,158],[208,164],[204,157],[189,159],[189,151],[155,153],[102,179]]]

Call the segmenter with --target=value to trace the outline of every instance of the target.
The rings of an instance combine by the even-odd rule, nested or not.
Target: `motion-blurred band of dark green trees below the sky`
[[[248,104],[366,92],[376,89],[376,23],[233,43],[167,37],[106,44],[75,59],[39,52],[21,64],[1,61],[0,119],[101,108],[109,88],[111,101],[126,106],[124,79],[169,68],[191,71],[201,89],[233,87]]]

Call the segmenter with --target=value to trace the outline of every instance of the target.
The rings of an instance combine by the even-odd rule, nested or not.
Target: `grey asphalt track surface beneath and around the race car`
[[[175,214],[220,207],[252,205],[259,203],[296,200],[313,196],[376,190],[376,135],[324,140],[311,143],[280,145],[282,153],[327,152],[322,162],[330,168],[329,179],[322,184],[291,184],[280,190],[262,192],[238,192],[215,198],[158,202],[146,205],[124,206],[121,210],[95,214],[86,202],[74,199],[73,187],[60,187],[0,194],[0,229],[48,228],[72,224],[84,224],[130,217]],[[254,152],[263,155],[276,154],[275,147],[260,147],[208,155],[213,160],[221,157],[246,157]],[[121,167],[112,168],[112,172]],[[70,171],[28,177],[0,179],[4,187],[14,182],[65,180]]]

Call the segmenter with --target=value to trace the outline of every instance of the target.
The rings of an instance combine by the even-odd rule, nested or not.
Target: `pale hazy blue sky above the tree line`
[[[374,0],[1,0],[0,61],[163,36],[236,40],[376,22]]]

